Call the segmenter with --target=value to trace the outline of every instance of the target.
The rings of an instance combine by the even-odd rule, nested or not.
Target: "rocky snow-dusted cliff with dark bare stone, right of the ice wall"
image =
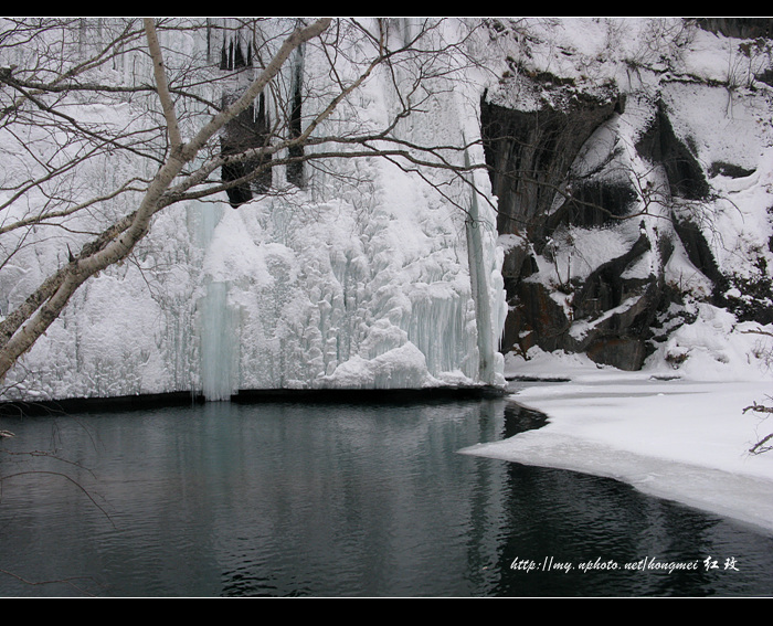
[[[505,352],[636,370],[696,303],[773,319],[769,21],[635,22],[627,47],[601,20],[546,25],[573,36],[547,56],[525,38],[483,96]]]

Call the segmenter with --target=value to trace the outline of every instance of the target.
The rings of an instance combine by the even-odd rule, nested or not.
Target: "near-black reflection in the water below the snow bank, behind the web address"
[[[627,485],[549,468],[508,468],[510,508],[493,595],[770,595],[773,540]],[[555,494],[561,494],[555,498]],[[537,512],[537,516],[534,516]],[[703,560],[712,556],[717,570]],[[534,561],[513,572],[515,559]],[[724,570],[735,559],[739,570]],[[546,563],[553,567],[544,571]],[[571,564],[570,571],[558,563]],[[742,565],[740,564],[742,563]],[[582,565],[586,570],[581,570]],[[626,565],[636,569],[626,569]],[[690,566],[690,570],[667,567]],[[643,569],[644,567],[644,569]],[[548,592],[549,590],[549,592]],[[548,593],[547,593],[548,592]]]

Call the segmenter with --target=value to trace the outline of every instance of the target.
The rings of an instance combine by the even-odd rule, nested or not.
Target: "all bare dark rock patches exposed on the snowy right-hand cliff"
[[[713,283],[711,304],[726,306],[745,319],[772,320],[773,307],[760,306],[773,301],[771,280],[739,285],[724,276],[699,224],[689,213],[677,214],[676,210],[659,234],[658,229],[646,229],[642,222],[638,238],[629,237],[623,254],[583,277],[568,273],[558,284],[534,277],[540,262],[542,266],[550,264],[551,237],[557,233],[566,229],[614,230],[626,222],[635,226],[640,219],[635,217],[636,212],[647,202],[647,190],[624,177],[605,177],[601,169],[582,179],[572,173],[580,150],[602,124],[623,109],[624,100],[612,95],[564,102],[571,106],[562,110],[546,106],[518,112],[487,102],[481,107],[486,159],[499,199],[498,229],[508,241],[502,275],[509,314],[502,352],[526,353],[538,346],[546,351],[584,352],[599,363],[624,370],[639,369],[654,342],[663,340],[658,316],[680,298],[664,280],[664,267],[677,245]],[[710,194],[709,178],[751,173],[733,163],[711,163],[705,170],[689,138],[675,134],[665,106],[654,103],[654,108],[635,148],[643,160],[665,173],[667,184],[658,191],[664,194],[658,201],[668,204],[670,198],[699,205]],[[648,275],[628,272],[639,261],[652,262]],[[753,298],[730,301],[723,296],[729,287]]]

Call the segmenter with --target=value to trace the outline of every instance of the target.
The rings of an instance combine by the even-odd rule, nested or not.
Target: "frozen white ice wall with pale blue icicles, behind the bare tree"
[[[307,89],[320,87],[324,70],[308,52]],[[339,67],[343,75],[352,70]],[[392,78],[375,75],[319,134],[351,130],[352,120],[358,128],[383,124],[398,106]],[[395,135],[474,140],[479,124],[469,103],[479,95],[448,94],[430,98],[427,113]],[[223,400],[240,389],[501,384],[498,353],[486,356],[491,367],[483,374],[480,365],[481,346],[496,352],[505,311],[487,178],[475,180],[484,195],[472,257],[485,289],[474,293],[467,187],[442,171],[427,182],[378,158],[329,161],[305,173],[307,183],[290,194],[239,209],[223,195],[159,214],[129,263],[76,294],[9,374],[4,397],[191,391]],[[274,181],[285,184],[285,172],[277,169]],[[55,266],[61,252],[41,246],[20,257],[21,283],[8,268],[6,282],[0,275],[8,306]],[[490,298],[483,308],[480,293]],[[480,332],[487,341],[478,341]]]

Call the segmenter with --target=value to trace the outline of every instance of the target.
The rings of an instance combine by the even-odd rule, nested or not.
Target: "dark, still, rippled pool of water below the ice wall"
[[[506,400],[3,420],[0,595],[773,595],[773,537],[457,453],[536,426]]]

